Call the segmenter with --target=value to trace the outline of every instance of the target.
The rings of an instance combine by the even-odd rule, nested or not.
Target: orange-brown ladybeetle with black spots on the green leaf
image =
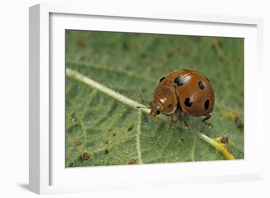
[[[171,130],[172,123],[177,122],[177,110],[187,129],[187,114],[206,116],[202,121],[205,125],[213,127],[206,120],[211,117],[210,113],[214,109],[214,90],[208,78],[195,69],[182,69],[162,77],[152,96],[153,100],[149,104],[150,115],[155,117],[160,113],[172,113],[168,131]]]

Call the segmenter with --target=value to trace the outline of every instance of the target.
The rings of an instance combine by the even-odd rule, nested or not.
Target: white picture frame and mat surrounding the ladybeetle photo
[[[91,17],[94,17],[92,19]],[[110,23],[108,21],[114,21]],[[88,23],[92,20],[92,23]],[[99,22],[95,22],[99,20]],[[67,23],[68,21],[68,23]],[[107,22],[106,22],[107,21]],[[87,23],[86,23],[87,22]],[[134,23],[129,26],[127,23]],[[179,34],[177,26],[187,26],[181,34],[244,37],[245,89],[244,123],[245,158],[236,161],[172,163],[137,166],[111,166],[65,169],[64,139],[53,133],[62,129],[64,106],[61,104],[65,73],[63,67],[63,29],[156,32],[155,26],[146,30],[143,23],[160,23]],[[103,24],[99,27],[99,24]],[[107,26],[104,26],[107,23]],[[125,23],[125,24],[124,24]],[[173,27],[175,32],[173,32]],[[184,24],[184,25],[183,25]],[[263,114],[259,101],[251,101],[254,90],[262,93],[262,87],[252,85],[248,79],[262,79],[262,19],[255,17],[175,13],[160,10],[105,10],[79,5],[38,4],[29,8],[29,189],[37,194],[73,193],[112,189],[164,187],[187,183],[251,181],[262,179]],[[140,26],[139,26],[140,25]],[[202,26],[208,28],[201,28]],[[89,28],[90,27],[90,28]],[[140,29],[140,28],[145,29]],[[176,28],[175,28],[176,27]],[[200,32],[190,33],[200,27]],[[215,28],[218,27],[218,28]],[[231,29],[230,29],[231,28]],[[208,29],[208,30],[207,30]],[[238,30],[237,30],[238,29]],[[211,32],[209,31],[211,30]],[[233,31],[232,31],[233,30]],[[235,31],[234,31],[235,30]],[[244,36],[243,36],[244,35]],[[54,39],[53,39],[54,38]],[[248,47],[248,48],[246,48]],[[252,49],[251,49],[252,48]],[[57,55],[57,56],[56,56]],[[57,81],[55,80],[57,78]],[[60,94],[57,95],[56,94]],[[61,95],[62,94],[62,95]],[[258,95],[258,94],[257,94]],[[59,97],[58,97],[59,96]],[[256,99],[256,98],[255,98]],[[253,104],[251,106],[249,104]],[[58,113],[58,114],[57,114]],[[53,117],[58,116],[57,122]],[[253,120],[253,122],[249,122]],[[255,127],[256,126],[256,127]],[[255,131],[252,134],[249,131]],[[63,132],[64,134],[64,132]],[[61,146],[54,145],[57,141]],[[253,147],[251,147],[251,142]],[[256,144],[256,147],[254,146]],[[222,170],[222,167],[226,167]],[[173,170],[185,170],[175,174]],[[222,170],[222,171],[220,171]],[[158,174],[157,174],[158,172]],[[91,177],[83,177],[89,174]],[[103,176],[107,176],[104,181]],[[87,179],[90,178],[90,179]],[[72,182],[76,181],[76,182]],[[80,181],[80,182],[78,182]]]

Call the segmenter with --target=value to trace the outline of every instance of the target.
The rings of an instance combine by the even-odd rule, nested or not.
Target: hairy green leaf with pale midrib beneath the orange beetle
[[[225,160],[212,139],[220,135],[243,159],[243,130],[228,116],[243,120],[243,39],[67,30],[66,66],[66,167]],[[168,133],[168,116],[155,126],[134,107],[148,106],[158,80],[185,67],[214,87],[214,128],[189,117],[191,131],[179,120]]]

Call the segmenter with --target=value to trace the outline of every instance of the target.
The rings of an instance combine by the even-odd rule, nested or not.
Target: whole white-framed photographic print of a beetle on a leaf
[[[38,4],[29,20],[31,191],[261,178],[260,18]]]

